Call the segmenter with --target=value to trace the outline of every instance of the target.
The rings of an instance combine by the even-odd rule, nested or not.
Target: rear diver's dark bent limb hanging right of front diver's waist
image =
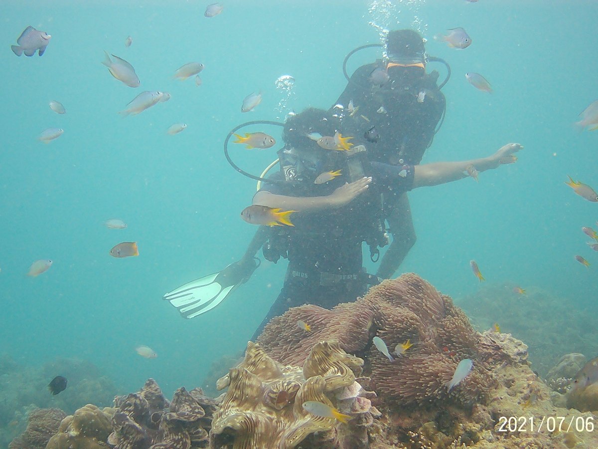
[[[392,212],[387,217],[392,233],[392,243],[382,260],[376,273],[378,277],[389,279],[395,274],[407,253],[416,241],[413,219],[411,218],[411,207],[407,194],[403,193],[393,205]]]

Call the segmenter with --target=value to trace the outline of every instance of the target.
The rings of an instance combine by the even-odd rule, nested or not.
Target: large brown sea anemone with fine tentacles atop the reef
[[[311,332],[295,323],[303,320]],[[389,351],[409,339],[414,345],[395,362],[371,344],[379,336]],[[415,274],[386,280],[358,301],[333,310],[313,305],[292,308],[274,318],[258,338],[264,350],[282,363],[306,360],[318,341],[338,341],[340,348],[367,360],[371,385],[384,401],[398,405],[426,405],[456,400],[471,405],[493,386],[487,369],[492,342],[481,339],[466,315],[449,296],[441,295]],[[450,393],[446,383],[459,360],[474,360],[474,370]]]

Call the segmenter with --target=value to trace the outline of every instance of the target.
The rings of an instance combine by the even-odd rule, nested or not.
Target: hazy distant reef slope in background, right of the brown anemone
[[[484,283],[477,292],[456,299],[455,303],[477,329],[486,330],[499,323],[502,332],[526,342],[533,369],[542,377],[563,354],[594,357],[598,346],[595,302],[572,307],[576,302],[572,298],[555,296],[537,287],[529,287],[526,295],[519,295],[514,287],[511,283]]]

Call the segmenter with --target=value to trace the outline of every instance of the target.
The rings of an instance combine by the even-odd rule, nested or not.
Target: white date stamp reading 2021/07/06
[[[501,416],[496,432],[593,432],[593,416]]]

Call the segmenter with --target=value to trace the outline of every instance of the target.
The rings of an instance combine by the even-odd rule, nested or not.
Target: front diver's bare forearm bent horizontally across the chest
[[[338,208],[349,204],[356,196],[365,192],[371,180],[372,178],[361,178],[353,183],[344,184],[327,196],[286,196],[261,190],[255,194],[253,204],[300,212]]]

